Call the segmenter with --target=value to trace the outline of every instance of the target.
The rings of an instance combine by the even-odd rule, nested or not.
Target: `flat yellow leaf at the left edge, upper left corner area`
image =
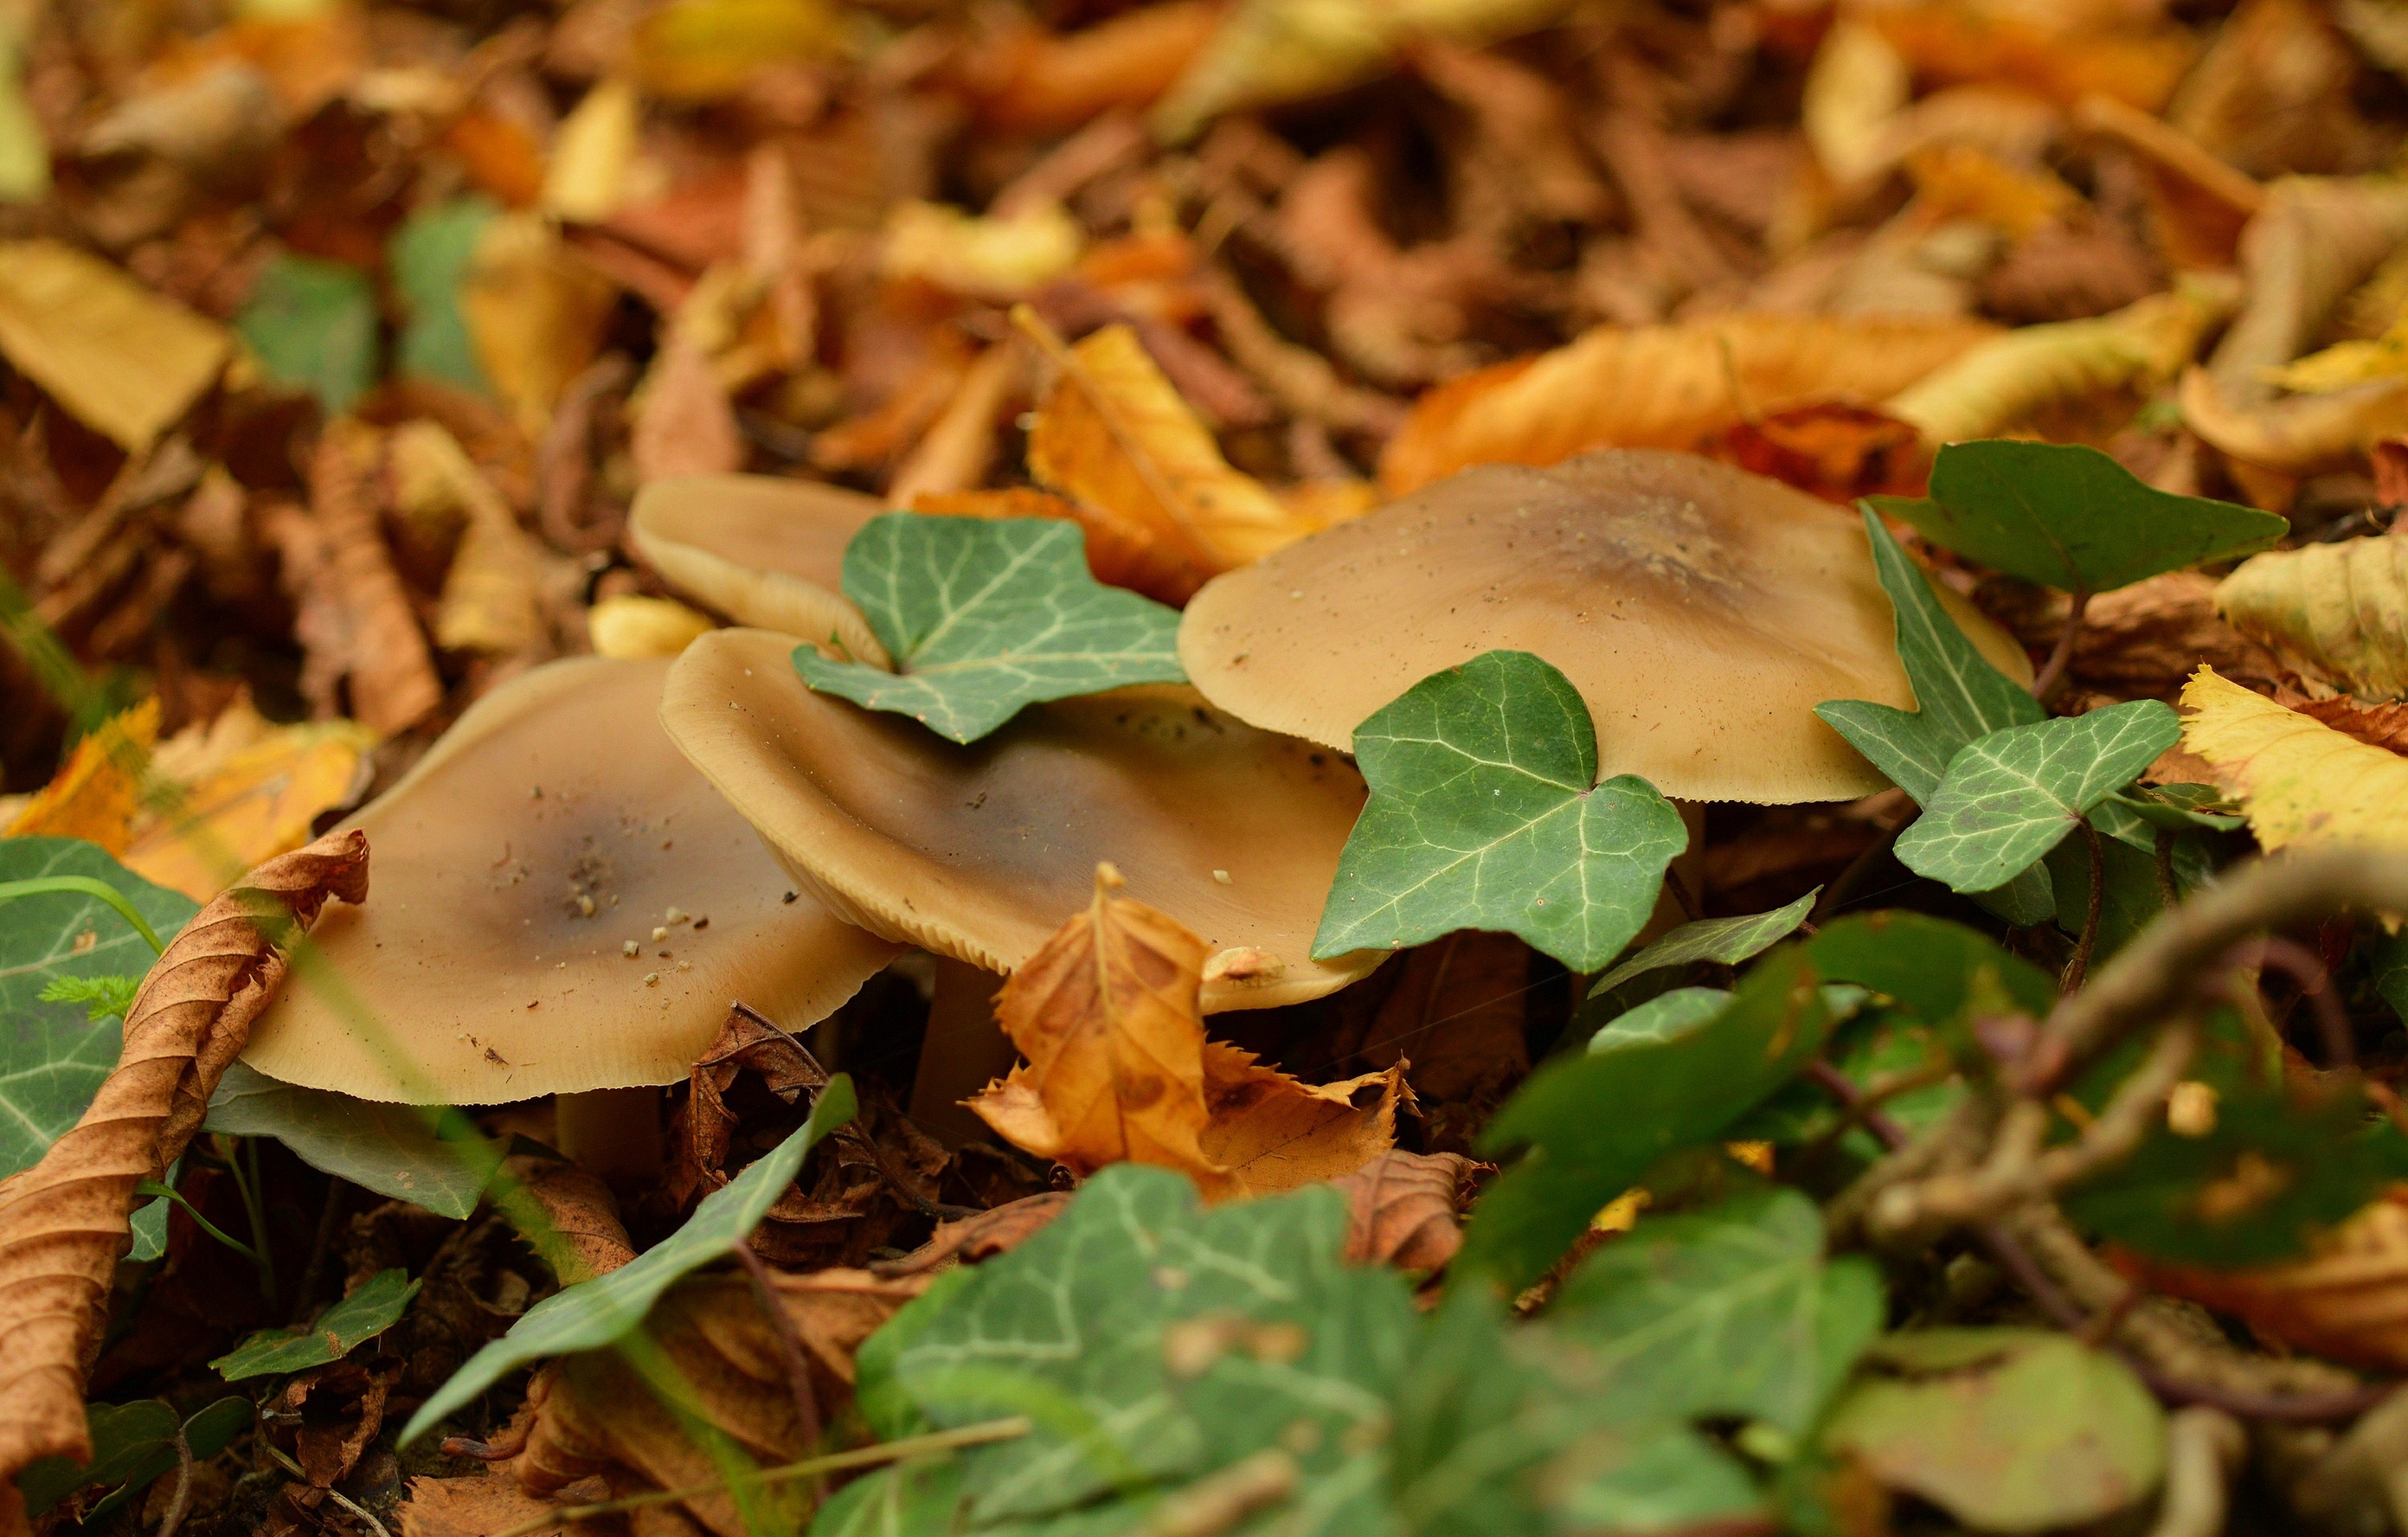
[[[231,352],[224,325],[96,255],[0,241],[0,354],[128,453],[183,417]]]

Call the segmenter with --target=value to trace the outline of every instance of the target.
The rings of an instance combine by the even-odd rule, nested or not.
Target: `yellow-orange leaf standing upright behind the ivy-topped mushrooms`
[[[1315,523],[1221,458],[1134,330],[1105,325],[1064,347],[1026,308],[1014,318],[1062,371],[1028,429],[1028,472],[1040,482],[1144,528],[1206,571],[1312,532]]]

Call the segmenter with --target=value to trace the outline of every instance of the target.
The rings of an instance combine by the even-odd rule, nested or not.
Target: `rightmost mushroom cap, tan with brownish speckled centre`
[[[2030,658],[1941,602],[1991,662]],[[1852,800],[1888,781],[1816,720],[1825,699],[1914,708],[1857,513],[1654,448],[1483,465],[1216,576],[1180,662],[1267,730],[1353,744],[1373,711],[1483,650],[1580,689],[1601,773],[1676,800]]]

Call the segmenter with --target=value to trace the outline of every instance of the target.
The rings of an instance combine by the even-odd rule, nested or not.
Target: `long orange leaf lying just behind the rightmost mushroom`
[[[1380,484],[1401,496],[1471,465],[1698,448],[1751,414],[1888,400],[1996,335],[1979,320],[1825,316],[1601,325],[1426,393],[1380,455]]]

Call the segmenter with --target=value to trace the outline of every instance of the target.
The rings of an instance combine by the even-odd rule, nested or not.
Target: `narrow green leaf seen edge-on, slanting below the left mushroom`
[[[525,1318],[510,1325],[508,1335],[470,1356],[467,1366],[455,1371],[409,1417],[409,1426],[402,1429],[402,1445],[409,1445],[445,1414],[491,1388],[513,1366],[580,1349],[602,1349],[643,1325],[643,1315],[653,1311],[653,1303],[660,1301],[660,1294],[677,1277],[725,1258],[744,1241],[761,1224],[761,1214],[795,1183],[804,1156],[848,1120],[852,1120],[852,1079],[840,1072],[819,1091],[811,1118],[792,1137],[756,1159],[751,1168],[706,1195],[703,1205],[686,1219],[686,1226],[609,1274],[554,1291],[527,1308]]]

